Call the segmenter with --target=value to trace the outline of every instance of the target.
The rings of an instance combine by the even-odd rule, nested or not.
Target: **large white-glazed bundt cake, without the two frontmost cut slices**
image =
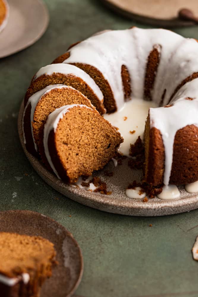
[[[164,29],[103,31],[70,46],[53,64],[41,68],[24,103],[59,83],[81,91],[101,115],[106,109],[119,118],[134,99],[152,101],[157,108],[149,109],[145,125],[145,182],[165,187],[188,184],[186,189],[194,189],[198,180],[197,52],[196,40]],[[130,110],[133,118],[136,110]]]

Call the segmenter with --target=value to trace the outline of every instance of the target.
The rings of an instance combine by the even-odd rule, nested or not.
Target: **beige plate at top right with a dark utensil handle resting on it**
[[[153,26],[192,26],[194,22],[178,18],[178,11],[188,8],[198,16],[197,0],[100,0],[126,18]]]

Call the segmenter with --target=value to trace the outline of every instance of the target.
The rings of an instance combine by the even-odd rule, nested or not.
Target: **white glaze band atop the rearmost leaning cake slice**
[[[82,80],[87,83],[90,88],[93,90],[93,92],[96,94],[96,96],[99,98],[101,102],[103,102],[103,94],[99,87],[96,85],[95,81],[82,69],[70,65],[70,64],[51,64],[47,65],[45,67],[42,67],[35,75],[34,80],[38,78],[39,76],[46,74],[46,75],[52,75],[53,73],[62,73],[62,74],[72,74],[77,77],[80,77]]]

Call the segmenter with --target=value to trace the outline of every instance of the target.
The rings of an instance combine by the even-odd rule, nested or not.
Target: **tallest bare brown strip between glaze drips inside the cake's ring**
[[[160,61],[160,53],[158,49],[160,45],[154,45],[153,50],[148,56],[146,65],[145,80],[144,80],[144,100],[151,101],[151,91],[154,86],[154,81],[157,73],[157,68]]]

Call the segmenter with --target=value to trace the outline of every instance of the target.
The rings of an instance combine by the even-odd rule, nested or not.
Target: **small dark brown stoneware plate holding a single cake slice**
[[[83,274],[83,257],[72,234],[53,219],[33,211],[0,211],[0,221],[0,232],[42,236],[54,244],[59,265],[44,282],[40,297],[72,296]]]

